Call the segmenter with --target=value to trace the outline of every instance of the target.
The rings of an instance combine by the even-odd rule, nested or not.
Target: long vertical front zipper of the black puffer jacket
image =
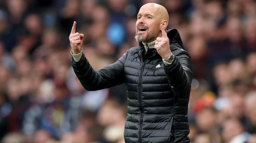
[[[141,67],[141,70],[140,70],[140,76],[139,76],[139,104],[140,104],[140,111],[141,111],[141,113],[140,113],[140,128],[139,128],[139,143],[142,143],[142,133],[141,133],[141,131],[142,131],[142,123],[143,123],[143,108],[142,108],[142,98],[141,98],[141,96],[142,96],[142,94],[141,94],[141,80],[142,80],[142,73],[143,73],[143,71],[144,71],[144,66],[145,66],[145,63],[144,63],[144,60],[142,61],[142,67]]]

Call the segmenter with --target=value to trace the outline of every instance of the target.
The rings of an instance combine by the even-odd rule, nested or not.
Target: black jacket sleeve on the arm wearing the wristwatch
[[[164,67],[169,85],[175,95],[187,95],[192,82],[190,55],[182,48],[175,49],[172,53],[175,55],[174,61]]]

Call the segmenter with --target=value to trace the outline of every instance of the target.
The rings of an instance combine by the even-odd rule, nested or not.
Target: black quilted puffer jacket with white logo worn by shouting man
[[[94,71],[84,54],[72,58],[73,69],[87,90],[127,85],[126,143],[189,143],[187,106],[192,70],[177,30],[168,30],[175,59],[163,64],[156,49],[145,53],[142,43],[109,66]],[[159,66],[160,65],[160,66]]]

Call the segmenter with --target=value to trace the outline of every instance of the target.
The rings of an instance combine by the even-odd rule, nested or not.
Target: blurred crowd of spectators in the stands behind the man
[[[192,143],[256,143],[255,0],[0,0],[2,143],[124,143],[126,87],[86,91],[73,21],[94,69],[138,43],[137,12],[162,4],[191,55]]]

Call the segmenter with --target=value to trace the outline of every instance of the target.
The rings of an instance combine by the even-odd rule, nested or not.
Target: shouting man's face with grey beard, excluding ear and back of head
[[[137,15],[136,35],[137,42],[149,43],[159,37],[160,18],[156,8],[152,6],[142,6]]]

